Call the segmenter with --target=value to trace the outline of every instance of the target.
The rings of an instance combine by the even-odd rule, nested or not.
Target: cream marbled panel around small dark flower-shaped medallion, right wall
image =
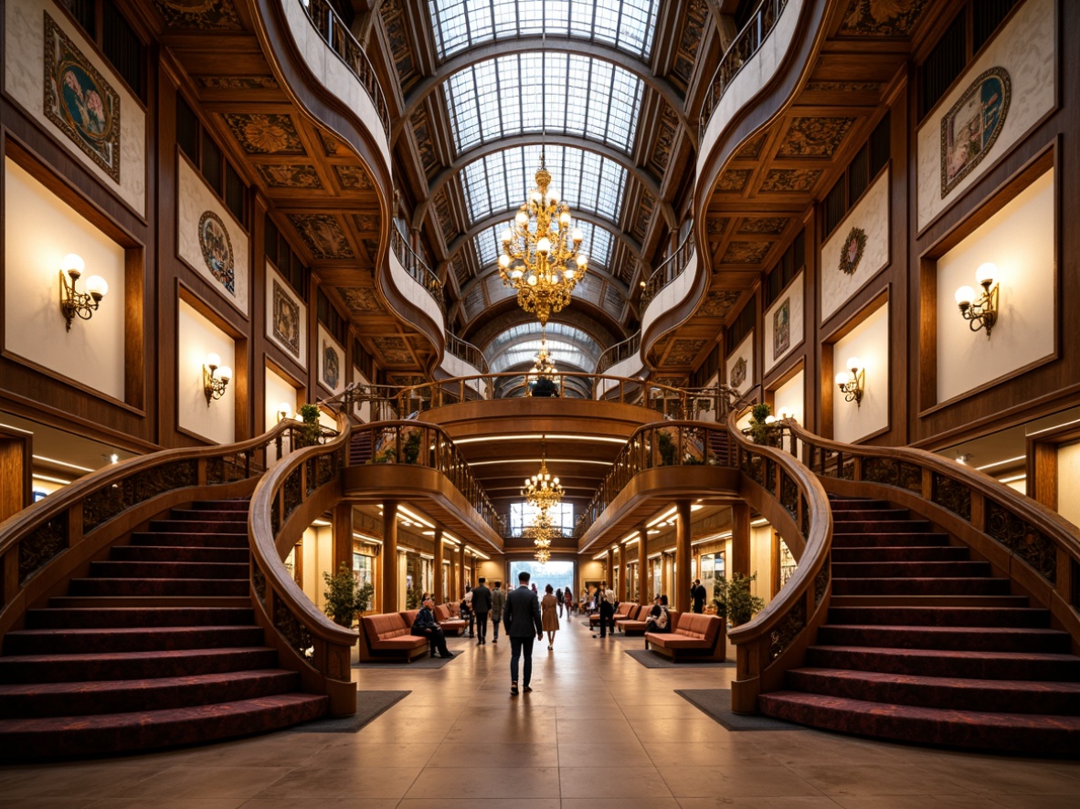
[[[889,175],[886,169],[821,246],[821,319],[827,320],[889,263]],[[866,234],[863,256],[851,275],[840,270],[852,229]]]

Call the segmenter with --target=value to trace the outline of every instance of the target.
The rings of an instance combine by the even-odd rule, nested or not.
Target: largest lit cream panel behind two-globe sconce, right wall
[[[975,270],[997,264],[999,317],[989,339],[972,333],[954,297],[976,292]],[[1027,366],[1054,351],[1054,173],[1048,172],[937,260],[937,401]]]

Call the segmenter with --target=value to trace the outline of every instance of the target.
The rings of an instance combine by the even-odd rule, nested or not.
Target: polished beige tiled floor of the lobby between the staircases
[[[975,755],[813,730],[729,732],[674,693],[732,669],[649,670],[640,640],[579,620],[537,644],[529,695],[510,644],[451,641],[441,670],[354,670],[413,693],[359,733],[275,733],[76,764],[0,766],[2,809],[1076,809],[1080,763]],[[632,644],[632,646],[627,646]]]

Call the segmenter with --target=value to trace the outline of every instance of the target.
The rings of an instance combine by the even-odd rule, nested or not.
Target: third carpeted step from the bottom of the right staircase
[[[806,664],[889,674],[983,680],[1080,681],[1080,657],[1034,652],[962,652],[873,646],[810,646]]]

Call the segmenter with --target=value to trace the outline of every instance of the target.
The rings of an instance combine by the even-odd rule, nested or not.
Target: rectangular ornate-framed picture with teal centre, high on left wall
[[[120,182],[120,96],[45,14],[45,116]]]

